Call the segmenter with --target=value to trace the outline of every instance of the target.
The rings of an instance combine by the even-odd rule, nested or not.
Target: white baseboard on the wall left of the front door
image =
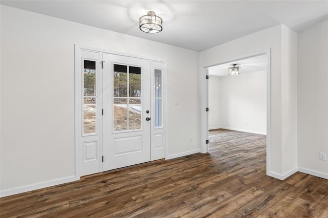
[[[45,182],[38,182],[38,183],[33,183],[29,185],[24,185],[24,186],[18,186],[15,188],[9,188],[5,190],[0,191],[0,198],[7,197],[9,195],[14,195],[14,194],[19,194],[27,191],[33,191],[36,189],[40,188],[46,188],[54,185],[59,185],[67,182],[73,182],[75,180],[75,176],[69,176],[69,177],[62,177],[54,180],[48,180]]]

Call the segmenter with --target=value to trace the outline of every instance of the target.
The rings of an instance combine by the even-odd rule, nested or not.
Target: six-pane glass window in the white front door
[[[141,68],[114,64],[113,69],[113,132],[141,129]]]

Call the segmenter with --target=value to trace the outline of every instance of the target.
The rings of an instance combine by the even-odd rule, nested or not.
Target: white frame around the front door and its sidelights
[[[168,158],[168,61],[166,59],[161,59],[161,58],[154,58],[154,57],[149,57],[149,56],[144,56],[144,55],[136,55],[136,54],[129,54],[129,53],[124,53],[124,52],[117,52],[117,51],[111,51],[111,50],[106,50],[102,48],[95,48],[95,47],[90,47],[90,46],[85,46],[85,45],[74,45],[74,82],[75,82],[75,88],[74,88],[74,117],[75,117],[75,125],[74,125],[74,133],[75,133],[75,180],[80,179],[80,150],[79,147],[81,145],[82,140],[79,131],[81,130],[81,123],[83,121],[82,115],[81,115],[81,86],[82,86],[82,81],[81,81],[81,75],[80,75],[80,63],[81,63],[81,51],[90,51],[90,52],[99,52],[101,54],[101,60],[102,61],[102,56],[103,53],[107,54],[113,54],[113,55],[118,55],[118,56],[126,56],[126,57],[133,57],[133,58],[140,58],[140,59],[147,59],[150,60],[150,70],[151,73],[154,71],[154,69],[161,69],[162,70],[162,92],[165,93],[163,96],[162,100],[162,115],[163,115],[163,132],[164,132],[164,138],[163,138],[163,150],[164,150],[164,158]],[[161,68],[158,68],[158,64],[161,64]],[[99,73],[99,75],[102,73]],[[99,76],[100,78],[97,80],[97,86],[99,90],[99,104],[98,106],[103,107],[103,87],[102,87],[102,77]],[[153,81],[151,81],[151,86],[153,84]],[[101,91],[100,91],[101,90]],[[152,102],[152,99],[151,99]],[[98,108],[100,111],[100,108]],[[99,160],[99,171],[98,172],[103,172],[103,162],[101,160],[101,156],[103,155],[103,118],[99,116],[98,118],[98,136],[99,136],[99,149],[98,149],[98,160]],[[152,125],[153,126],[153,125]],[[153,137],[153,132],[154,129],[151,128],[151,137]],[[152,141],[152,140],[151,140]],[[154,160],[153,157],[153,145],[151,144],[151,161]],[[96,173],[96,172],[95,172]]]

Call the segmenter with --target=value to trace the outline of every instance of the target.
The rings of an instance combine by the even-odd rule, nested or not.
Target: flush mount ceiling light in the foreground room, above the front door
[[[159,33],[162,31],[162,18],[157,16],[154,11],[148,11],[147,15],[140,17],[139,28],[145,33]]]

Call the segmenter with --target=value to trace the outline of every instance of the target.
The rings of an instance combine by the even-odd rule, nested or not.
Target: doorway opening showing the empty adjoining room
[[[237,64],[240,75],[228,75]],[[238,157],[238,152],[262,152],[270,169],[271,71],[270,49],[204,68],[204,151]],[[232,138],[231,138],[232,137]],[[244,143],[244,144],[242,144]],[[260,145],[261,144],[261,145]],[[256,149],[248,150],[254,145]],[[238,149],[241,148],[241,149]],[[261,150],[261,151],[260,151]]]

